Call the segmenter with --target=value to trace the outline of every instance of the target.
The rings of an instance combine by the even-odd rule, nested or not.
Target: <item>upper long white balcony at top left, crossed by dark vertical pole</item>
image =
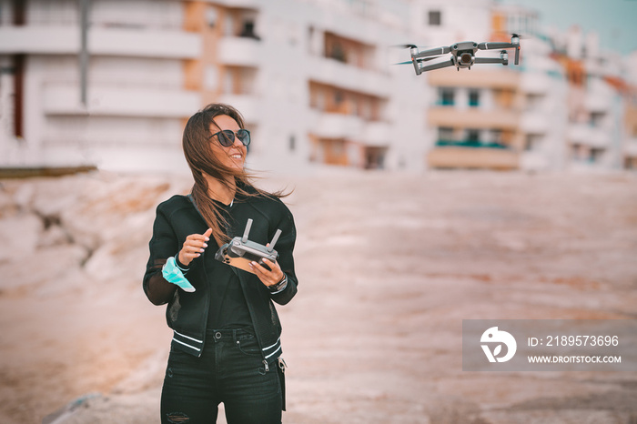
[[[88,52],[97,56],[196,58],[201,39],[184,31],[91,28]],[[77,26],[0,26],[0,54],[76,55],[80,49]]]

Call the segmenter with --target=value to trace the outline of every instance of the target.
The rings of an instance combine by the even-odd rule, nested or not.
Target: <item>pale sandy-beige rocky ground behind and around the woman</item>
[[[637,372],[461,365],[462,319],[637,318],[637,176],[338,171],[267,184],[288,183],[300,286],[278,308],[284,422],[637,422]],[[154,207],[187,186],[2,182],[2,422],[158,422],[171,333],[141,276]]]

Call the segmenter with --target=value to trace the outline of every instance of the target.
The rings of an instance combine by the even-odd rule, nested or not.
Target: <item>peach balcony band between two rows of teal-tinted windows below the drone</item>
[[[464,127],[479,129],[518,128],[520,114],[508,109],[459,109],[456,107],[434,106],[428,111],[429,125],[432,127]]]

